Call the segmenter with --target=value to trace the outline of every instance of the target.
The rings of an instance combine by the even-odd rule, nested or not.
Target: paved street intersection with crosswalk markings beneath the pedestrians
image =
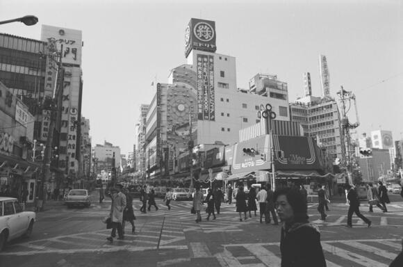
[[[101,219],[110,202],[99,204],[93,195],[90,208],[67,209],[62,202],[49,202],[37,213],[33,235],[10,243],[0,254],[1,266],[279,266],[280,227],[261,224],[258,216],[240,222],[235,204],[222,204],[217,220],[195,223],[192,202],[172,202],[167,210],[142,214],[135,200],[135,234],[126,224],[124,240],[109,243],[110,230]],[[343,197],[329,205],[326,222],[319,220],[316,204],[309,204],[309,216],[322,233],[327,266],[388,266],[400,252],[403,202],[390,196],[390,212],[362,202],[362,213],[372,220],[368,228],[353,216],[353,228],[346,227],[347,206]],[[212,219],[212,218],[211,218]]]

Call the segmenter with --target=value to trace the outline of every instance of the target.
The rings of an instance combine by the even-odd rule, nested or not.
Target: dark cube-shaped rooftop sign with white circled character
[[[192,49],[215,52],[215,22],[204,19],[190,19],[185,30],[185,56]]]

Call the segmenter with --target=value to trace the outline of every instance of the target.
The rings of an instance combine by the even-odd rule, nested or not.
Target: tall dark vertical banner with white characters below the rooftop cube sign
[[[197,118],[215,120],[214,58],[197,54]]]

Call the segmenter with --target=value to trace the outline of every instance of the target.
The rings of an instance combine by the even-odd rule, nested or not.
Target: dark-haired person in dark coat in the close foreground
[[[308,207],[298,189],[280,188],[274,192],[281,227],[281,267],[324,267],[320,231],[309,223]]]

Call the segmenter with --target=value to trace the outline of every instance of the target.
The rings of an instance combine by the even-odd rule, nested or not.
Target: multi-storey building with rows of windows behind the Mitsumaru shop
[[[299,122],[305,136],[317,137],[333,159],[345,159],[343,129],[336,100],[307,96],[290,103],[291,120]]]

